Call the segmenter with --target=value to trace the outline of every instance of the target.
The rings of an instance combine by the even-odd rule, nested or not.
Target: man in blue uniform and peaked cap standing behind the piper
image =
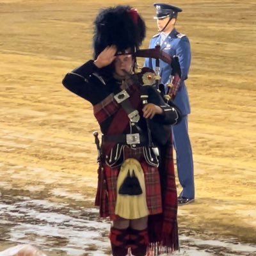
[[[188,91],[184,81],[188,79],[188,71],[191,62],[191,51],[188,37],[175,29],[177,15],[182,9],[170,4],[154,3],[156,8],[157,28],[159,33],[150,40],[149,48],[155,48],[157,44],[161,49],[170,54],[178,56],[181,69],[181,82],[173,102],[182,112],[182,121],[173,125],[173,145],[177,156],[177,172],[182,186],[182,192],[178,197],[179,205],[189,204],[195,199],[195,184],[193,170],[193,156],[191,143],[188,135],[188,114],[190,113]],[[156,60],[147,58],[145,66],[156,70]],[[167,88],[170,83],[172,67],[160,60],[161,83]]]

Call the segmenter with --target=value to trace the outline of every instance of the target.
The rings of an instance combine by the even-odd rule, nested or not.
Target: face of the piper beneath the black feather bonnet
[[[129,51],[125,51],[129,52]],[[120,54],[121,52],[117,52],[117,56],[115,58],[115,72],[118,76],[125,76],[127,73],[132,73],[132,54]]]

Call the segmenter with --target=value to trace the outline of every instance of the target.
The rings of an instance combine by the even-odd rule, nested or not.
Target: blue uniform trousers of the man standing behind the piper
[[[188,136],[188,115],[183,116],[179,124],[172,126],[172,132],[177,172],[182,186],[180,196],[195,198],[193,156]]]

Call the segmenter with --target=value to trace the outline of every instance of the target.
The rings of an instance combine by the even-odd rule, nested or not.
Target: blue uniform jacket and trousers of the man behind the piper
[[[173,29],[163,42],[161,42],[161,33],[153,36],[150,40],[149,48],[155,48],[157,44],[161,45],[161,49],[170,56],[179,56],[182,81],[173,103],[179,107],[183,118],[179,124],[172,127],[173,145],[177,157],[177,172],[182,186],[180,196],[192,199],[195,198],[195,184],[193,155],[188,134],[188,114],[190,113],[190,105],[188,91],[184,83],[188,78],[189,66],[191,63],[190,44],[188,37],[180,34],[176,29]],[[161,83],[163,83],[166,88],[166,83],[170,81],[172,67],[161,60],[159,61],[159,65]],[[156,70],[156,60],[147,58],[145,60],[145,67],[150,67]]]

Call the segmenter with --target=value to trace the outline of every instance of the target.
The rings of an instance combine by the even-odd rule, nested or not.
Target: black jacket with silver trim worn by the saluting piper
[[[142,84],[140,84],[141,74],[134,74],[132,76],[136,78],[134,81],[137,81],[137,86],[142,86]],[[106,99],[106,97],[109,97],[111,93],[115,94],[116,88],[120,86],[120,81],[113,76],[101,76],[100,69],[94,65],[93,60],[90,60],[80,67],[75,68],[72,72],[69,72],[63,79],[63,85],[71,92],[88,100],[93,106],[96,106]],[[140,100],[140,98],[138,98],[138,100]],[[150,120],[153,140],[156,143],[163,144],[164,141],[167,141],[170,137],[170,125],[177,124],[181,118],[179,109],[174,105],[166,105],[154,86],[148,86],[148,103],[156,104],[163,109],[162,115],[155,115],[154,118]],[[147,132],[147,125],[141,111],[143,108],[142,103],[139,104],[138,108],[141,114],[138,125],[136,125],[136,127],[127,125],[124,133]],[[99,122],[103,134],[108,134],[108,127],[111,122],[113,122],[114,117],[115,113],[108,116],[103,122]],[[122,120],[120,120],[120,122],[122,122]],[[135,129],[135,131],[132,131],[132,129]]]

